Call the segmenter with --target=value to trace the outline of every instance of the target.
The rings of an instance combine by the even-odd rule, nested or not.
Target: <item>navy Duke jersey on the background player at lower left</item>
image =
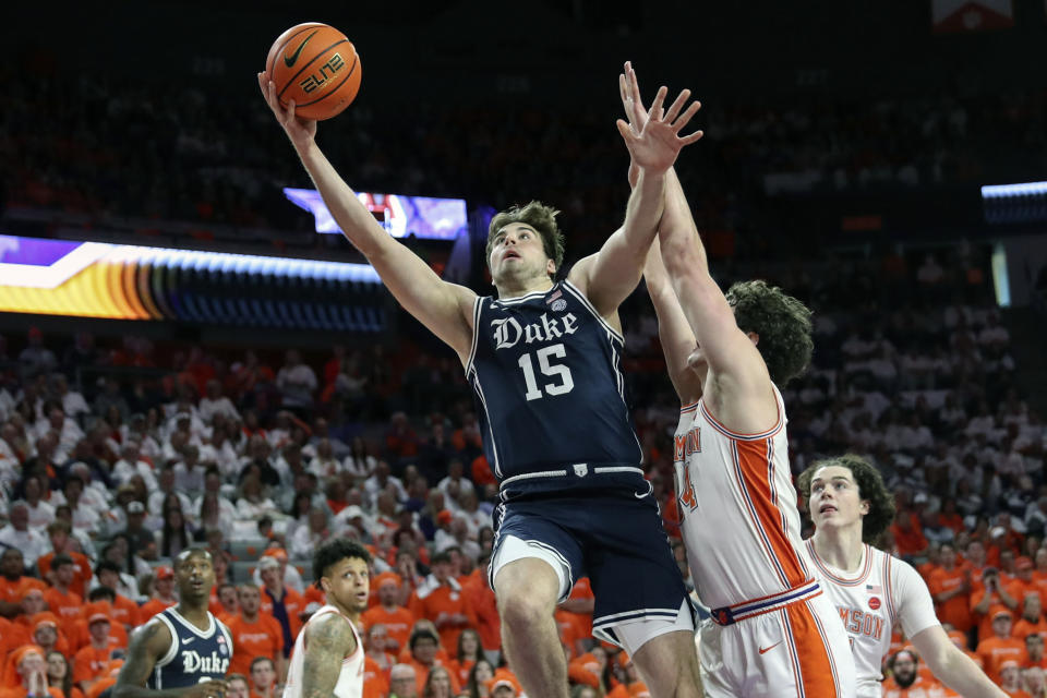
[[[222,678],[229,670],[229,660],[232,659],[229,628],[208,612],[210,627],[201,630],[176,609],[171,606],[153,616],[152,622],[164,623],[171,631],[171,648],[156,662],[145,682],[146,688],[184,688]]]

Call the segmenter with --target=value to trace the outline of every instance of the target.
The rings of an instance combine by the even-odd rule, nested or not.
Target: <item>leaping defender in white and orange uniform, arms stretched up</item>
[[[641,128],[635,73],[619,82]],[[810,311],[762,281],[724,296],[672,170],[659,240],[645,276],[684,405],[674,448],[681,528],[698,595],[714,606],[715,624],[701,631],[706,696],[853,698],[847,637],[799,537],[775,387],[810,360]]]

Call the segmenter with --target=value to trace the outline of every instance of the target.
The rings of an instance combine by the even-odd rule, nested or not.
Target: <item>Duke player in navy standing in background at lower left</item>
[[[207,611],[215,586],[210,553],[190,547],[174,558],[179,602],[135,630],[112,698],[222,698],[232,636]]]

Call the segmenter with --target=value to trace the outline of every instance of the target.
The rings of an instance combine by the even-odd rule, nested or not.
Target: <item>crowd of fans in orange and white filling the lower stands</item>
[[[832,269],[778,279],[816,310],[814,366],[783,394],[794,471],[844,452],[876,462],[898,503],[882,546],[917,566],[994,678],[1044,695],[1047,432],[979,263],[939,252]],[[647,302],[625,306],[635,417],[686,576],[677,406]],[[496,484],[452,359],[373,345],[291,349],[279,364],[133,336],[62,341],[35,328],[0,339],[3,690],[24,695],[43,667],[56,698],[100,694],[128,633],[177,603],[172,557],[204,545],[234,684],[270,698],[324,602],[311,551],[346,535],[374,553],[369,696],[519,691],[485,579]],[[580,579],[556,614],[575,690],[643,695],[628,658],[592,638],[591,612]],[[888,665],[904,676],[918,657],[894,640]]]

